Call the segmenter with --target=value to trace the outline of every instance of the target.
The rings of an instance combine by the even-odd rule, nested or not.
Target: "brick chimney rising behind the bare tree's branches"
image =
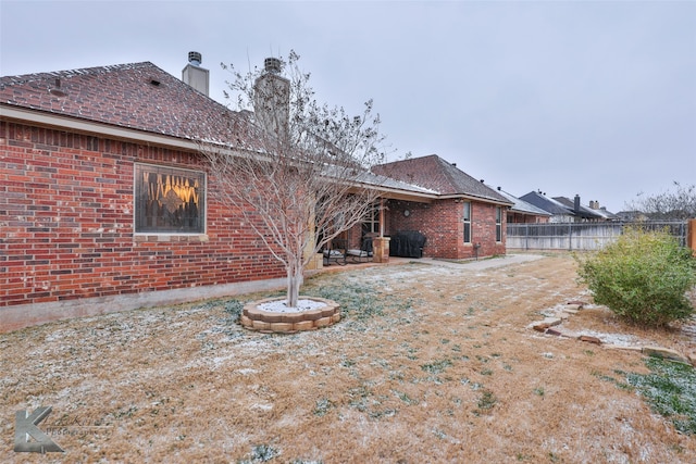
[[[283,63],[277,58],[263,61],[263,73],[253,85],[253,111],[266,131],[282,141],[287,137],[290,118],[290,81],[281,76]]]

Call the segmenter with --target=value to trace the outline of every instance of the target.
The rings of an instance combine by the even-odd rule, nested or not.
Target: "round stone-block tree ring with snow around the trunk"
[[[252,301],[244,306],[240,323],[244,327],[262,333],[293,334],[301,330],[315,330],[340,321],[340,306],[333,300],[316,297],[300,297],[300,301],[310,300],[311,310],[276,312],[262,309],[274,302],[285,301],[285,297],[266,298]]]

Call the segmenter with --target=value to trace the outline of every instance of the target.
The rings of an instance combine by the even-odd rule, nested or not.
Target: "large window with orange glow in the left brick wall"
[[[135,165],[135,231],[206,233],[206,174]]]

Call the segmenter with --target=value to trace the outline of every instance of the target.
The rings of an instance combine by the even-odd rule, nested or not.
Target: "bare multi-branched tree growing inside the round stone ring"
[[[289,306],[304,266],[372,210],[377,191],[362,176],[384,159],[372,101],[355,117],[320,104],[298,60],[290,52],[287,62],[266,59],[264,70],[244,74],[223,65],[245,118],[201,148],[223,201],[285,266]]]

